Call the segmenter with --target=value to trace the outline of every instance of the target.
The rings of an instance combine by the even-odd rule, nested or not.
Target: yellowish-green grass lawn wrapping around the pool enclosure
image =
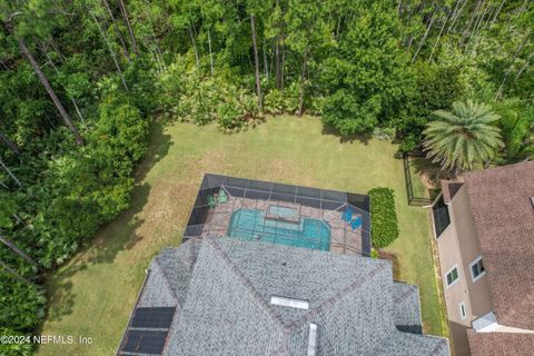
[[[433,267],[428,214],[409,207],[396,146],[340,140],[316,118],[278,117],[231,136],[215,126],[156,123],[138,169],[131,207],[105,226],[72,260],[49,277],[43,335],[90,337],[91,345],[42,345],[38,355],[111,355],[141,286],[145,268],[165,246],[177,246],[205,172],[366,192],[396,192],[400,237],[396,278],[417,284],[425,332],[444,335]],[[414,181],[421,186],[421,179]]]

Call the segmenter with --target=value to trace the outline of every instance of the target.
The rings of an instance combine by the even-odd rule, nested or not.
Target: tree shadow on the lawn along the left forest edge
[[[148,201],[150,185],[142,182],[148,171],[160,161],[172,145],[171,136],[164,135],[165,123],[155,122],[150,130],[150,146],[134,175],[136,185],[131,191],[130,205],[112,221],[105,224],[95,238],[83,241],[80,250],[62,268],[47,276],[47,320],[58,322],[72,313],[75,298],[71,277],[95,264],[111,264],[122,250],[132,249],[142,236],[136,233],[144,224],[138,217]],[[42,329],[42,324],[40,329]]]

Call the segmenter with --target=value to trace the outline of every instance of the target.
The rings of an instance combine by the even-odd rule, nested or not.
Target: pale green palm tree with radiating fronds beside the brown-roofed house
[[[439,120],[427,125],[423,146],[427,157],[455,175],[487,164],[503,146],[501,130],[492,125],[500,117],[484,103],[454,102],[451,112],[437,110],[434,115]]]

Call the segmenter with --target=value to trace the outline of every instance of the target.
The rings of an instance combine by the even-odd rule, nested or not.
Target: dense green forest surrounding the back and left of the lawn
[[[453,174],[534,155],[530,0],[0,0],[0,23],[1,335],[128,207],[156,119],[309,113]]]

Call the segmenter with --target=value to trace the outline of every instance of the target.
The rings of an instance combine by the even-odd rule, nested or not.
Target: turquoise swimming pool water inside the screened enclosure
[[[326,222],[312,218],[300,218],[298,222],[283,221],[266,218],[264,211],[256,209],[234,211],[228,236],[325,251],[330,247],[330,228]]]

